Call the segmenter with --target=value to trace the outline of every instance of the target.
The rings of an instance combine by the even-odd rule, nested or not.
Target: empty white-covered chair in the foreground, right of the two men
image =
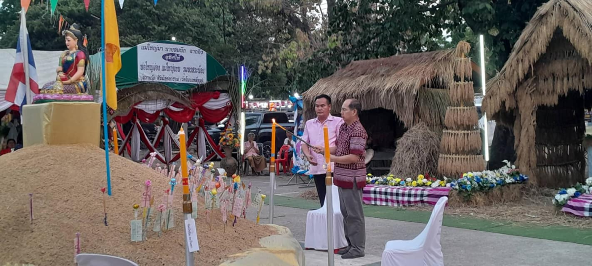
[[[432,210],[429,222],[413,240],[388,241],[382,252],[385,266],[443,266],[444,256],[440,245],[442,218],[448,197],[440,197]]]

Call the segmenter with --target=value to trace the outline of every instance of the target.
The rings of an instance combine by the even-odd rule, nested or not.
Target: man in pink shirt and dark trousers
[[[329,129],[329,147],[335,147],[337,135],[339,135],[339,128],[343,125],[343,119],[337,116],[332,116],[331,98],[328,95],[318,95],[314,98],[314,111],[317,113],[317,118],[306,121],[304,125],[303,140],[310,143],[314,147],[324,148],[323,126],[327,125]],[[306,144],[302,145],[304,155],[306,155],[310,162],[309,172],[314,177],[314,184],[317,187],[318,200],[321,206],[324,204],[327,188],[325,186],[325,177],[327,170],[323,168],[324,156],[313,151]],[[333,163],[331,163],[331,170],[333,171]]]

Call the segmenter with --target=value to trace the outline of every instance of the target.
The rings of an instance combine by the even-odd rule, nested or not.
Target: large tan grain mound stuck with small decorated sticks
[[[169,180],[150,168],[112,155],[112,196],[107,197],[108,226],[103,223],[101,188],[106,186],[105,152],[91,145],[38,145],[0,157],[0,265],[72,265],[73,239],[81,233],[81,252],[123,257],[139,265],[184,265],[185,239],[181,182],[174,190],[175,227],[158,236],[147,232],[147,241],[131,242],[132,206],[140,203],[144,182],[152,181],[154,205],[159,205]],[[29,209],[33,193],[33,225]],[[141,209],[141,208],[140,208]],[[256,211],[249,207],[248,211]],[[141,210],[139,212],[141,219]],[[156,213],[152,219],[156,218]],[[231,220],[223,233],[220,210],[206,223],[204,202],[196,219],[200,252],[196,265],[218,265],[221,259],[249,248],[275,232],[251,220]]]

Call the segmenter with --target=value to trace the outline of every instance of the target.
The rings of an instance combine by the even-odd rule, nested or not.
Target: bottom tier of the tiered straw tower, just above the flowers
[[[482,155],[440,154],[438,159],[438,173],[446,177],[461,177],[466,172],[484,168],[485,160]]]

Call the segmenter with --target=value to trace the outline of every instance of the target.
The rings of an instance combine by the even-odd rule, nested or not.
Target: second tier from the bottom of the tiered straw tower
[[[478,130],[442,132],[440,150],[444,154],[481,153],[481,134]]]

